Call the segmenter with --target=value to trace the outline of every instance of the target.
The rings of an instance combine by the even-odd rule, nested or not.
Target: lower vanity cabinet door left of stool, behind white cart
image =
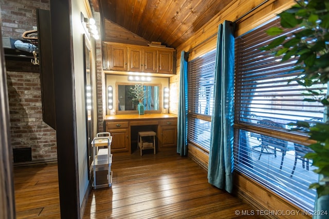
[[[130,153],[129,129],[111,129],[109,132],[112,135],[111,153]]]

